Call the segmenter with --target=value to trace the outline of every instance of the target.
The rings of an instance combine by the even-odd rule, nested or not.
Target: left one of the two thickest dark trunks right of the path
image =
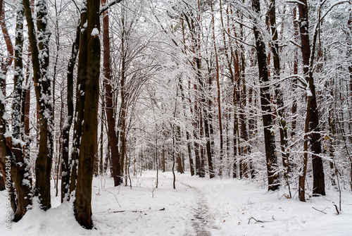
[[[260,1],[252,0],[254,11],[260,15]],[[263,35],[258,29],[258,22],[254,20],[253,24],[254,37],[256,39],[256,51],[258,57],[259,82],[260,82],[260,104],[263,111],[264,142],[265,156],[268,169],[268,190],[279,189],[279,176],[277,175],[277,156],[275,147],[275,134],[272,131],[272,109],[270,104],[270,87],[268,86],[268,66],[267,55]],[[309,44],[308,44],[309,45]]]

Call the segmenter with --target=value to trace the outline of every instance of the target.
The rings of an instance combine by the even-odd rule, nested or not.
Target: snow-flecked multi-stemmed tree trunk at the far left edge
[[[4,19],[4,12],[2,11],[3,2],[0,1],[0,15]],[[4,33],[4,38],[6,41],[6,46],[8,49],[8,54],[13,56],[13,50],[11,40],[8,42],[6,36],[6,25],[5,22],[1,23],[1,28]],[[24,134],[20,132],[21,128],[21,105],[22,105],[22,87],[23,87],[23,5],[18,3],[18,11],[16,18],[16,39],[15,39],[15,77],[14,77],[14,89],[13,89],[13,111],[12,122],[13,122],[13,137],[16,140],[22,139]],[[11,60],[8,60],[12,62]],[[6,72],[7,66],[1,64],[0,72],[0,94],[1,97],[5,97],[6,88]],[[8,192],[11,198],[11,207],[14,211],[13,221],[19,221],[27,212],[27,206],[32,204],[32,196],[30,194],[31,176],[27,173],[29,172],[30,166],[28,157],[23,153],[23,147],[20,144],[15,143],[13,137],[5,137],[4,134],[8,131],[7,120],[4,119],[5,115],[5,100],[0,101],[0,171],[3,173],[4,178],[1,179],[1,184],[6,183],[8,187]],[[4,183],[4,179],[6,182]],[[13,188],[13,185],[15,190]],[[5,186],[4,186],[5,187]],[[15,198],[16,193],[16,198]]]

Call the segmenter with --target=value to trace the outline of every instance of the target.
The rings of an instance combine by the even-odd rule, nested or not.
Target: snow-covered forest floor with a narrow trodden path
[[[132,177],[132,189],[111,187],[110,178],[94,178],[93,230],[75,221],[72,203],[52,198],[52,209],[32,206],[18,223],[5,229],[6,195],[0,192],[0,235],[352,235],[352,194],[327,190],[324,197],[298,201],[296,190],[267,192],[249,180],[191,177],[172,173],[143,172]],[[130,185],[130,180],[128,181]],[[52,185],[52,196],[56,190]],[[60,191],[59,191],[60,192]]]

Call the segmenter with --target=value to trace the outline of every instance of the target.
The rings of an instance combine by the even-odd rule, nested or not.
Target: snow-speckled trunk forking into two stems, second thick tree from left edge
[[[30,1],[24,0],[25,16],[27,19],[30,48],[32,50],[32,64],[34,87],[39,108],[40,141],[39,154],[36,161],[36,194],[42,204],[42,209],[51,208],[50,174],[53,148],[53,123],[51,106],[51,79],[48,77],[49,67],[49,27],[46,1],[37,1],[37,30],[34,27]],[[38,60],[38,58],[43,58]],[[48,99],[49,98],[49,99]]]

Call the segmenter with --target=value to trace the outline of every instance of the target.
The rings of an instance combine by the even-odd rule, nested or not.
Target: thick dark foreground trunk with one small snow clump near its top
[[[92,178],[97,153],[99,75],[100,75],[100,20],[99,1],[87,0],[87,87],[84,103],[82,144],[77,171],[75,199],[76,220],[84,228],[92,229]]]

